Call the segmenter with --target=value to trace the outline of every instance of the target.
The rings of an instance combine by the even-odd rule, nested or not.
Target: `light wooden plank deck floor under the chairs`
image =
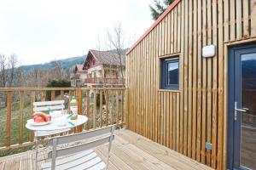
[[[108,169],[212,169],[129,130],[121,129],[115,134]],[[104,160],[107,147],[102,146],[96,152]],[[34,157],[33,150],[1,157],[0,170],[36,169]]]

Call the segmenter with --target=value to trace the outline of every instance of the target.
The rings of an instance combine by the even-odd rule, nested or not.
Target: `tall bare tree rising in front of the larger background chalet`
[[[124,66],[123,66],[123,55],[125,50],[125,31],[123,30],[122,24],[118,22],[111,31],[107,31],[108,34],[108,47],[113,49],[118,54],[119,68],[121,71],[122,84],[125,86],[124,78]]]

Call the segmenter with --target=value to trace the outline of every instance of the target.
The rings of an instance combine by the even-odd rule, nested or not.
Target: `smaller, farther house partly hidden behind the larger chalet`
[[[70,80],[72,87],[83,87],[84,79],[87,78],[87,71],[83,70],[84,65],[73,65],[70,69]]]

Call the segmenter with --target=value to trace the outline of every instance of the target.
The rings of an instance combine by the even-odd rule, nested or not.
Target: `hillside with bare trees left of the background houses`
[[[16,54],[0,54],[0,88],[44,88],[49,81],[69,80],[69,68],[83,64],[84,59],[85,56],[79,56],[39,65],[19,65]]]

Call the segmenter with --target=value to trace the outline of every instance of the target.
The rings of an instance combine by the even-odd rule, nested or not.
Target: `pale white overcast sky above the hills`
[[[153,0],[0,0],[0,54],[20,65],[87,54],[122,24],[131,44],[154,23]],[[129,38],[128,38],[129,37]],[[129,39],[129,40],[128,40]]]

